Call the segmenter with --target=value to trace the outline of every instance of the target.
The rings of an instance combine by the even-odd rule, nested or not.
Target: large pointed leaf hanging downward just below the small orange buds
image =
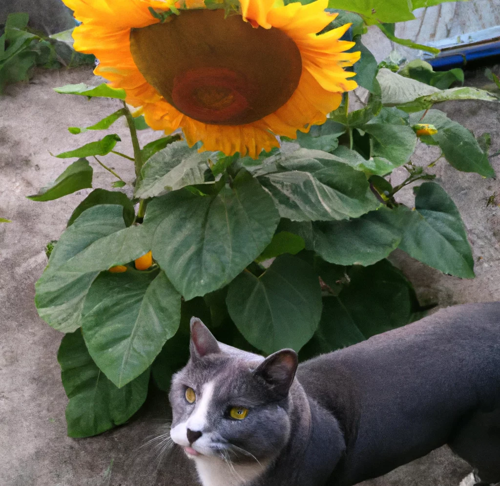
[[[130,268],[94,280],[81,327],[90,356],[121,388],[151,365],[179,319],[180,295],[165,273]]]

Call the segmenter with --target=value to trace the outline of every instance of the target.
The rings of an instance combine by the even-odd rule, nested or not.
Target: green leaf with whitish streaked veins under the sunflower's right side
[[[295,221],[357,217],[378,207],[366,176],[341,158],[300,148],[269,157],[273,172],[258,176],[281,217]],[[265,172],[266,168],[260,172]],[[258,173],[257,173],[258,174]]]

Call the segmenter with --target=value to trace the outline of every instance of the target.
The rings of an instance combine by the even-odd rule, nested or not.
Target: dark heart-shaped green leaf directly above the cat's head
[[[298,351],[319,323],[321,289],[307,263],[284,254],[259,277],[240,273],[229,284],[226,303],[250,344],[266,353],[283,347]]]

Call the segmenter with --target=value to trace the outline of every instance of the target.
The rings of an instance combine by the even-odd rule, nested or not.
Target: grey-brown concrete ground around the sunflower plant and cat
[[[60,382],[56,352],[62,334],[46,325],[33,303],[34,282],[41,274],[47,241],[63,231],[72,209],[89,189],[50,202],[33,202],[33,194],[69,164],[52,153],[74,148],[96,138],[87,132],[71,135],[68,126],[86,126],[119,107],[118,101],[67,96],[52,87],[90,82],[87,68],[72,71],[39,71],[29,84],[9,87],[0,98],[0,486],[194,486],[192,474],[180,455],[159,460],[151,444],[168,417],[164,394],[152,396],[127,425],[97,437],[66,437],[64,408],[67,398]],[[477,84],[482,80],[472,79]],[[498,105],[482,102],[446,103],[450,117],[477,134],[491,132],[493,150],[500,148]],[[117,149],[132,153],[122,120],[108,132],[123,135]],[[141,142],[157,137],[140,132]],[[415,162],[436,157],[419,150]],[[123,158],[105,158],[125,180],[133,176]],[[492,160],[500,171],[500,157]],[[443,160],[435,166],[440,183],[459,207],[473,245],[477,277],[461,280],[441,275],[399,253],[395,261],[414,282],[423,303],[440,305],[500,298],[500,187],[451,169]],[[394,174],[394,180],[403,177]],[[94,165],[94,186],[110,188],[114,177]],[[487,198],[499,194],[486,207]],[[409,190],[402,193],[409,203]],[[446,448],[400,467],[365,486],[457,486],[469,466]]]

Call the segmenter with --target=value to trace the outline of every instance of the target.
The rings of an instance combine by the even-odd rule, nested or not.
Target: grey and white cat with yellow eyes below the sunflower
[[[190,326],[170,436],[203,486],[349,486],[445,443],[481,484],[500,481],[500,302],[441,309],[298,366],[291,349],[264,358]]]

